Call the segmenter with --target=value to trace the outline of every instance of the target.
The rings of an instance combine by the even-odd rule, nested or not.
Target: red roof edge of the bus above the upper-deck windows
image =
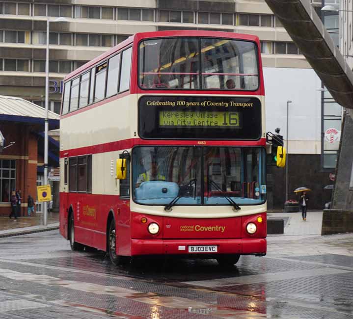
[[[237,39],[237,40],[247,40],[254,41],[259,44],[259,37],[251,34],[242,34],[242,33],[234,33],[234,32],[224,32],[224,31],[204,31],[204,30],[171,30],[171,31],[154,31],[154,32],[138,32],[134,35],[130,36],[128,39],[119,43],[115,47],[109,49],[107,52],[95,57],[93,60],[88,61],[83,64],[78,69],[69,73],[64,81],[71,79],[83,71],[89,69],[94,64],[98,63],[114,54],[117,51],[120,51],[124,47],[132,44],[133,42],[139,42],[143,39],[149,38],[165,38],[165,37],[212,37],[212,38],[227,38],[227,39]]]

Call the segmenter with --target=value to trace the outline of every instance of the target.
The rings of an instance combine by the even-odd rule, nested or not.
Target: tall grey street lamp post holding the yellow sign
[[[45,58],[45,119],[44,119],[44,185],[48,185],[48,131],[49,131],[49,23],[65,22],[65,18],[47,19],[47,48]],[[43,224],[48,224],[48,202],[43,202]]]

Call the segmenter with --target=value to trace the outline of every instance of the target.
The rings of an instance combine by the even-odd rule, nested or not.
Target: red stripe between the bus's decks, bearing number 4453
[[[60,158],[80,156],[85,154],[100,154],[132,148],[135,145],[191,145],[191,146],[266,146],[266,138],[257,141],[202,141],[202,140],[145,140],[129,138],[120,141],[84,146],[70,150],[60,151]]]

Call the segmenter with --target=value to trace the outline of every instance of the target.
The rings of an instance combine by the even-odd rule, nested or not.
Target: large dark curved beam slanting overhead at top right
[[[335,101],[341,106],[353,109],[353,72],[339,49],[335,47],[310,1],[266,2]]]

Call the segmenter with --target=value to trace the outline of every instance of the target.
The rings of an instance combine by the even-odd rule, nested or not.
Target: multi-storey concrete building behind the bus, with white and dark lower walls
[[[98,5],[99,4],[99,5]],[[318,10],[321,1],[313,2]],[[321,170],[321,82],[264,0],[33,0],[0,2],[0,94],[44,107],[45,30],[50,23],[50,109],[59,112],[60,80],[136,32],[201,29],[259,36],[267,93],[267,131],[286,136],[289,112],[290,186],[317,186]],[[314,107],[313,107],[314,106]],[[300,179],[306,176],[305,179]],[[270,170],[269,206],[283,207],[284,170]],[[326,181],[327,180],[327,181]],[[272,185],[276,198],[271,197]],[[300,185],[299,185],[300,184]],[[291,196],[294,198],[294,196]],[[290,198],[291,198],[290,197]]]

